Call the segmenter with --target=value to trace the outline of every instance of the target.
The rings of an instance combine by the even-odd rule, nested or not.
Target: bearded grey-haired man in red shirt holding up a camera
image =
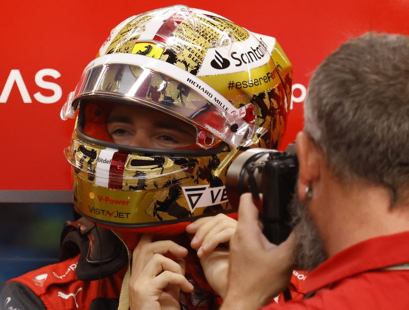
[[[406,36],[363,35],[316,69],[296,143],[300,224],[270,244],[242,195],[223,310],[262,307],[294,267],[313,269],[305,298],[265,309],[409,308],[408,98]]]

